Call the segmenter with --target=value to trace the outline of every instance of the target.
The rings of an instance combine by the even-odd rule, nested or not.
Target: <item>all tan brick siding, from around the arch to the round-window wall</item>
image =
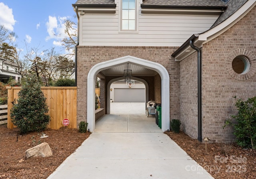
[[[232,127],[222,128],[224,121],[236,113],[236,99],[256,95],[256,7],[238,23],[202,47],[202,137],[212,142],[231,142]],[[100,62],[134,56],[162,64],[170,76],[170,119],[180,119],[181,129],[197,138],[197,52],[181,62],[171,54],[174,47],[78,46],[77,54],[77,123],[87,117],[87,74]],[[238,55],[250,59],[248,74],[235,74],[232,59]],[[101,84],[101,98],[106,107],[107,77]],[[138,77],[149,85],[149,100],[161,100],[160,76]],[[234,98],[236,96],[236,98]]]

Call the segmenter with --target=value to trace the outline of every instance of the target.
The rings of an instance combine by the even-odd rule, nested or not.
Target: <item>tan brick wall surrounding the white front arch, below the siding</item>
[[[77,53],[77,121],[86,121],[87,117],[87,74],[89,70],[100,62],[120,58],[123,56],[134,56],[152,62],[162,64],[170,75],[170,115],[172,117],[179,116],[179,63],[174,62],[171,54],[176,48],[172,47],[108,47],[108,46],[78,46]],[[150,86],[154,86],[154,82],[149,77],[144,78]],[[106,84],[108,79],[106,77]],[[150,92],[150,91],[149,91]],[[154,98],[152,92],[149,99]]]

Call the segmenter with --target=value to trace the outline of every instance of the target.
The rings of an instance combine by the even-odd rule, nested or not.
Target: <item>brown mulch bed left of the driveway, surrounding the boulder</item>
[[[65,127],[43,132],[53,155],[25,159],[27,149],[44,142],[42,132],[18,135],[17,141],[18,129],[0,125],[0,179],[46,179],[90,135]]]

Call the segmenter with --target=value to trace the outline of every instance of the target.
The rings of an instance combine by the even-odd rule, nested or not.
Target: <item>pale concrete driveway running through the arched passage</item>
[[[139,104],[118,106],[124,105],[137,110]],[[154,116],[134,111],[116,110],[99,119],[48,179],[213,179],[158,128]]]

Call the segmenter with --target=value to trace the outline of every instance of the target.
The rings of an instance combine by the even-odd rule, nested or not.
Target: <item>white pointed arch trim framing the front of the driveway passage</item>
[[[170,129],[170,77],[169,74],[161,64],[151,62],[133,56],[124,56],[106,62],[101,62],[94,65],[87,76],[87,122],[88,129],[94,131],[95,129],[95,80],[96,75],[105,69],[120,64],[136,64],[158,72],[161,77],[161,103],[162,103],[162,131]]]

